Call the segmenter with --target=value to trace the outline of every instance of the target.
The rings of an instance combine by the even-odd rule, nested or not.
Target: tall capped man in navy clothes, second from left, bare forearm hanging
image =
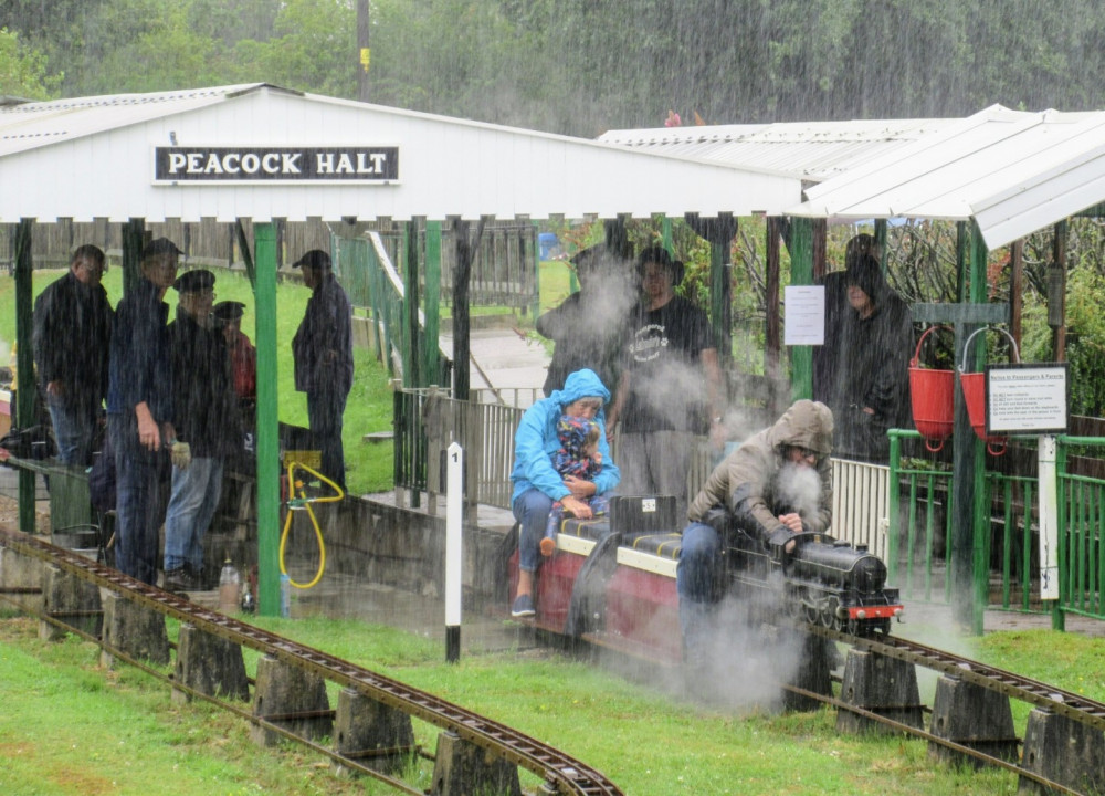
[[[167,238],[146,244],[141,279],[115,310],[107,385],[107,432],[115,451],[115,563],[157,583],[158,531],[168,501],[172,425],[169,305],[180,250]]]

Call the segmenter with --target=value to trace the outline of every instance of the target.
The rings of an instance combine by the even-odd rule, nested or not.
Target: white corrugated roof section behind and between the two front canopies
[[[599,140],[821,181],[899,149],[959,119],[785,122],[610,130]]]

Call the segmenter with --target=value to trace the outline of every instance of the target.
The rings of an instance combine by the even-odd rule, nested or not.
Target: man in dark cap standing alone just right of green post
[[[341,416],[352,387],[352,308],[330,269],[330,255],[312,249],[292,268],[302,269],[311,298],[292,339],[295,389],[307,394],[307,421],[322,450],[322,472],[345,490]]]

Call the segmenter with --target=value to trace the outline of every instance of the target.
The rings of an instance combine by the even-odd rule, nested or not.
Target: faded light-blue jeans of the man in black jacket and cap
[[[222,459],[192,459],[172,468],[172,493],[165,515],[165,570],[203,572],[203,534],[222,495]]]

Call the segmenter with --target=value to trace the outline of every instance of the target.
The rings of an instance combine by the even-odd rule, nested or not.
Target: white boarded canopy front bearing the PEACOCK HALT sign
[[[779,214],[770,169],[263,83],[0,107],[0,222]]]

